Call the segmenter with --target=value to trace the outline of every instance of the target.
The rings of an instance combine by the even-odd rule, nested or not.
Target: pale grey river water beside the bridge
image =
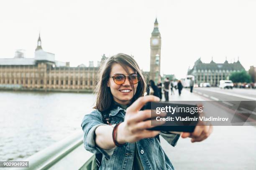
[[[81,128],[95,95],[0,91],[0,161],[22,160]]]

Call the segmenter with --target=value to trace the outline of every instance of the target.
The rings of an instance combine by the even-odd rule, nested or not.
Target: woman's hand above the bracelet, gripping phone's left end
[[[143,138],[154,137],[160,133],[160,131],[147,130],[154,127],[151,125],[151,120],[147,120],[151,118],[151,110],[141,110],[143,105],[153,101],[160,101],[160,99],[153,95],[139,97],[127,108],[124,122],[120,123],[117,129],[118,143],[134,143]],[[164,114],[158,116],[164,116]],[[163,123],[163,121],[159,121],[155,122],[154,125],[162,125]]]

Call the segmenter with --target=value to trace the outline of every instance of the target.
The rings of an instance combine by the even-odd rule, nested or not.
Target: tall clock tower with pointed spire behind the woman
[[[159,80],[161,80],[160,61],[161,61],[161,35],[158,30],[158,22],[156,19],[154,23],[154,30],[151,33],[151,38],[150,38],[150,72],[149,72],[150,80],[154,80],[154,82],[156,83]]]

